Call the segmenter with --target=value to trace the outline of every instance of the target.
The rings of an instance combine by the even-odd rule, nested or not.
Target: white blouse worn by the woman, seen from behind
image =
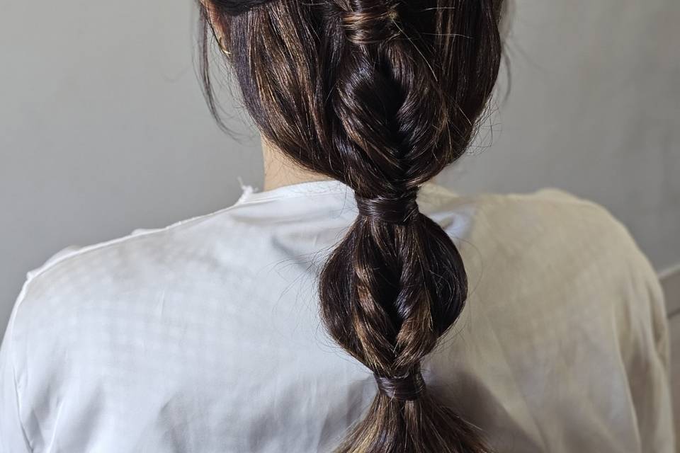
[[[429,183],[418,201],[470,280],[429,391],[499,453],[674,452],[662,289],[623,224],[554,188]],[[0,350],[0,452],[330,452],[376,392],[317,313],[355,217],[336,181],[246,188],[30,271]]]

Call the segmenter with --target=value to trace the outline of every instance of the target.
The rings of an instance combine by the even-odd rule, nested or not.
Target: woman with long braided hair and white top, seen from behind
[[[673,451],[625,226],[431,183],[492,93],[499,1],[206,2],[266,190],[29,273],[2,452]]]

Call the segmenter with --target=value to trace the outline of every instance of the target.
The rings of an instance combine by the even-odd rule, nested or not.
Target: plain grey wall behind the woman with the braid
[[[440,182],[570,190],[627,224],[657,270],[680,263],[680,2],[514,9],[509,98]],[[261,186],[262,169],[257,137],[225,137],[203,104],[191,1],[0,11],[1,334],[52,253],[231,205],[237,178]]]

